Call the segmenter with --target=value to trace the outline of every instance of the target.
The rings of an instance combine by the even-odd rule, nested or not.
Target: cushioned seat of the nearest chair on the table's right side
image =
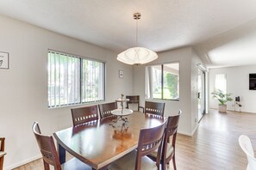
[[[109,165],[109,170],[134,170],[137,157],[137,151],[132,151],[128,155],[123,156],[119,160]],[[147,156],[141,158],[141,170],[157,170],[156,163]]]

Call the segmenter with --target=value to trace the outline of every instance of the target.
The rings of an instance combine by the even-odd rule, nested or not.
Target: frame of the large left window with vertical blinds
[[[79,94],[79,101],[78,102],[68,102],[67,104],[56,104],[55,101],[55,105],[51,105],[50,101],[49,101],[49,74],[50,74],[50,70],[48,70],[48,64],[49,64],[49,53],[53,52],[53,53],[58,53],[59,56],[60,55],[64,55],[67,56],[68,58],[78,58],[79,62],[79,73],[78,73],[78,94]],[[54,58],[54,60],[56,60],[56,58]],[[103,81],[103,100],[91,100],[91,101],[83,101],[84,100],[84,96],[83,96],[83,61],[87,60],[87,61],[91,61],[91,62],[98,62],[103,64],[103,72],[102,74],[102,81]],[[68,64],[68,61],[66,62]],[[65,63],[65,64],[66,64]],[[78,105],[83,105],[83,104],[90,104],[90,103],[97,103],[97,102],[102,102],[106,100],[106,61],[100,60],[100,59],[95,59],[95,58],[88,58],[88,57],[84,57],[84,56],[79,56],[76,54],[72,54],[69,52],[60,52],[60,51],[56,51],[56,50],[52,50],[52,49],[48,49],[47,50],[47,106],[49,109],[54,109],[54,108],[61,108],[61,107],[66,107],[66,106],[78,106]],[[54,94],[55,98],[56,98],[56,93]]]

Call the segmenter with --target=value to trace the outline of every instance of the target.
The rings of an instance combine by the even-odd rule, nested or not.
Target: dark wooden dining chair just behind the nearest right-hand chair
[[[177,169],[176,161],[175,161],[175,143],[177,137],[178,130],[178,120],[180,117],[181,111],[178,111],[178,115],[169,116],[167,119],[167,124],[165,127],[165,137],[163,141],[162,155],[161,155],[161,169],[166,169],[166,164],[168,164],[171,160],[173,163],[174,170]],[[170,142],[170,138],[172,137],[172,142]],[[153,154],[148,155],[153,161],[156,161],[157,151],[154,151]]]

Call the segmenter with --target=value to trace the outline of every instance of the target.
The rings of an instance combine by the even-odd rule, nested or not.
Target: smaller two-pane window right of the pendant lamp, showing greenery
[[[179,99],[179,64],[158,64],[146,67],[147,99]]]

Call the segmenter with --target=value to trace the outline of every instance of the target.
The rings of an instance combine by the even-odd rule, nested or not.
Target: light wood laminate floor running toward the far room
[[[202,118],[193,137],[178,134],[178,170],[245,170],[247,157],[238,143],[241,134],[251,138],[256,150],[256,114],[210,110]],[[41,159],[16,168],[27,169],[42,170]],[[169,170],[172,169],[171,161]]]

